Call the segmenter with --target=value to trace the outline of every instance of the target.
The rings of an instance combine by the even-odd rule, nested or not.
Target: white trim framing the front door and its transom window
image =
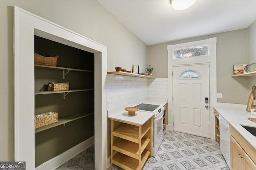
[[[181,47],[191,47],[195,45],[204,45],[210,44],[210,56],[208,61],[203,61],[205,64],[210,64],[210,138],[215,139],[215,131],[214,131],[214,114],[213,114],[213,106],[217,104],[217,38],[213,37],[210,39],[204,39],[200,41],[193,41],[188,43],[182,43],[177,45],[168,45],[168,130],[173,130],[173,92],[172,92],[172,85],[173,85],[173,78],[172,78],[172,67],[174,65],[192,65],[192,64],[200,64],[194,63],[191,59],[187,60],[186,62],[184,59],[182,63],[174,63],[172,59],[172,49],[181,48]]]

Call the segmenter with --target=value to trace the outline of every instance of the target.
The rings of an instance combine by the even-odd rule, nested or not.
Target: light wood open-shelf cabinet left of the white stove
[[[143,125],[111,119],[111,166],[141,170],[151,158],[152,117]],[[116,122],[124,123],[115,127]]]

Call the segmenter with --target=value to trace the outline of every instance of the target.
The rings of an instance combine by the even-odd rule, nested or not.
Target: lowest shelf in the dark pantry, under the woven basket
[[[93,112],[83,112],[83,113],[77,113],[77,114],[72,114],[72,115],[68,115],[68,116],[64,116],[64,117],[60,117],[58,118],[58,122],[56,123],[52,123],[50,125],[44,126],[44,127],[40,127],[38,129],[35,129],[35,133],[44,131],[46,129],[50,129],[52,127],[56,127],[58,125],[63,125],[65,123],[68,123],[70,121],[74,121],[76,119],[81,119],[83,117],[89,116],[89,115],[93,115]]]

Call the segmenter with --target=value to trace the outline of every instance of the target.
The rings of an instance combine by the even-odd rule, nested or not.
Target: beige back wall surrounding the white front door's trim
[[[147,49],[147,63],[154,68],[152,74],[157,78],[167,78],[167,45],[211,37],[217,37],[217,93],[222,93],[223,96],[223,98],[218,98],[217,102],[247,104],[247,77],[231,77],[234,64],[247,63],[247,29],[150,45]]]

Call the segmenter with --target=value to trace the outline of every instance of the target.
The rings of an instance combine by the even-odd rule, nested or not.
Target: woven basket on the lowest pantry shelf
[[[42,117],[36,117],[37,115],[35,115],[35,129],[58,122],[58,113],[56,112],[53,114],[46,112],[38,115],[42,115]]]

